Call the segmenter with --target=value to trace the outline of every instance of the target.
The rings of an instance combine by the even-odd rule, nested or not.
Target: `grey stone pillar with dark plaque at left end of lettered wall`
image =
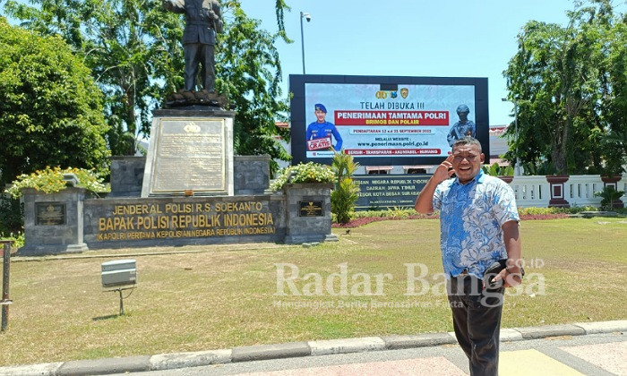
[[[24,246],[21,256],[87,251],[82,238],[85,189],[43,193],[24,189]]]

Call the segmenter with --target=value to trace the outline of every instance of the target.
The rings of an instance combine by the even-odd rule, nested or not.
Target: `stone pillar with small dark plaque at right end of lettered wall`
[[[331,234],[331,189],[333,184],[286,184],[286,244],[337,241]]]

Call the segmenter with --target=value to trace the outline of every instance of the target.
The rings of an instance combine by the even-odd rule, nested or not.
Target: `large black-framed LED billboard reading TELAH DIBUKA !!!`
[[[486,78],[290,75],[293,163],[437,164],[466,134],[489,154]],[[486,160],[486,163],[488,161]]]

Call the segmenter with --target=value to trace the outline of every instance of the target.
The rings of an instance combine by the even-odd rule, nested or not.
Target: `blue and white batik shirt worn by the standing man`
[[[483,278],[494,261],[507,258],[502,225],[520,221],[511,187],[480,171],[468,184],[458,178],[439,184],[434,209],[440,210],[442,264],[447,278],[464,270]]]

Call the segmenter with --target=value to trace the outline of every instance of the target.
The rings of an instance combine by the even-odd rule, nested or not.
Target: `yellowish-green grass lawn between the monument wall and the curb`
[[[117,293],[100,288],[100,264],[112,259],[13,262],[14,303],[9,330],[0,335],[0,365],[452,330],[438,276],[438,220],[376,222],[353,228],[350,235],[333,231],[338,243],[312,248],[127,250],[142,255],[133,256],[139,284],[125,299],[122,317],[116,314]],[[506,297],[503,328],[625,319],[627,220],[524,221],[521,235],[528,277]],[[178,253],[154,254],[161,251]],[[85,254],[103,253],[125,258],[119,250]],[[288,295],[275,295],[276,263],[298,268],[294,286],[303,295],[292,295],[287,284],[279,291]],[[412,263],[428,269],[423,295],[407,295],[405,264]],[[342,293],[339,277],[331,278],[327,290],[340,264],[348,268],[348,295],[332,295]],[[285,268],[287,277],[291,271]],[[317,290],[316,278],[321,279]],[[419,282],[409,285],[415,292],[422,288]],[[365,295],[368,288],[382,295]],[[305,295],[316,291],[322,295]]]

